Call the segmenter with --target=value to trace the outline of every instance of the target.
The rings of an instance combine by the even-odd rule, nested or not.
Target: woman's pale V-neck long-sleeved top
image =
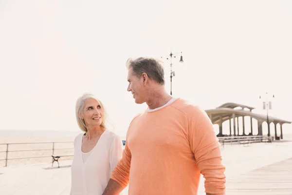
[[[71,166],[71,195],[101,195],[110,175],[121,159],[123,143],[119,136],[106,130],[87,159],[83,159],[81,144],[83,133],[74,139],[74,157]],[[84,160],[84,161],[83,161]]]

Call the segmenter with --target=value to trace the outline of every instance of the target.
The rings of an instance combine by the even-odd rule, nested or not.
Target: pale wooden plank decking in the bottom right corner
[[[226,195],[292,195],[292,158],[231,178]]]

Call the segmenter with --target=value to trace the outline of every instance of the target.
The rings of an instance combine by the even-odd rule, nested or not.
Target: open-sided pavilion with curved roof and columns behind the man
[[[240,109],[237,109],[237,108]],[[263,122],[267,122],[267,124],[271,127],[271,125],[274,125],[274,131],[275,131],[275,139],[283,139],[283,132],[282,132],[282,125],[285,123],[292,123],[291,121],[287,120],[282,120],[276,117],[270,117],[269,116],[269,121],[266,115],[260,115],[260,114],[255,114],[252,113],[252,110],[255,109],[250,106],[242,105],[242,104],[237,104],[237,103],[224,103],[221,106],[217,107],[216,109],[211,109],[211,110],[205,110],[208,116],[210,117],[211,121],[213,124],[218,124],[219,125],[219,134],[217,137],[224,137],[224,136],[253,136],[253,118],[257,120],[257,135],[258,136],[263,136],[263,129],[262,129],[262,124]],[[239,122],[238,118],[242,118],[242,135],[239,135]],[[244,118],[245,117],[250,117],[251,120],[251,131],[246,134],[245,131],[245,122]],[[229,135],[223,135],[222,132],[222,123],[224,121],[229,120],[229,130],[230,134]],[[232,124],[233,125],[232,125]],[[274,123],[274,124],[272,124]],[[279,125],[277,125],[279,124]],[[237,127],[236,127],[237,126]],[[280,136],[277,134],[277,126],[280,127]],[[268,128],[268,136],[271,135],[270,128]],[[256,135],[254,135],[256,136]]]

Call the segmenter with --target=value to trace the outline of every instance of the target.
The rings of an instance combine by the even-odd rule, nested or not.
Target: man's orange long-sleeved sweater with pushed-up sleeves
[[[206,193],[224,195],[224,171],[209,117],[178,98],[131,121],[110,178],[129,184],[129,195],[197,195],[201,173]]]

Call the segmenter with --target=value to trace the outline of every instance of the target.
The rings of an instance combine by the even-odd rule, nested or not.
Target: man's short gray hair
[[[156,81],[159,84],[164,85],[164,67],[162,62],[154,58],[140,57],[137,59],[128,59],[126,62],[128,69],[132,68],[133,74],[140,78],[143,73]]]

